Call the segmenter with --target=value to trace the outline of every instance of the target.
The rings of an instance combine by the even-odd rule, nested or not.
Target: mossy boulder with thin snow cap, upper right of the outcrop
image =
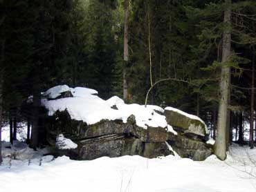
[[[165,108],[164,115],[167,124],[180,129],[183,133],[192,133],[203,137],[209,134],[205,123],[195,115],[190,115],[172,107]]]

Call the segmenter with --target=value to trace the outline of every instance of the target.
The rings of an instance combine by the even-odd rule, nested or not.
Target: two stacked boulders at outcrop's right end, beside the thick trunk
[[[199,117],[171,107],[165,108],[164,115],[178,133],[167,140],[176,153],[196,161],[205,160],[212,154],[212,146],[206,144],[208,130]]]

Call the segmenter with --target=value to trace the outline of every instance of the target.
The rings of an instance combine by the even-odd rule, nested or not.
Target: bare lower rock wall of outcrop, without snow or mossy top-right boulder
[[[180,127],[176,128],[174,125],[172,126],[177,135],[161,127],[141,128],[136,126],[133,115],[128,118],[127,123],[121,120],[102,120],[93,125],[71,119],[66,111],[57,112],[48,118],[51,122],[47,131],[48,142],[54,146],[57,133],[63,133],[78,147],[59,150],[58,153],[77,160],[93,160],[102,156],[141,155],[153,158],[174,155],[165,142],[181,157],[192,160],[205,160],[212,154],[211,146],[205,144],[205,136],[183,132]]]

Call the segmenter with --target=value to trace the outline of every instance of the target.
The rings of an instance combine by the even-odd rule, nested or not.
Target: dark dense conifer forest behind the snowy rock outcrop
[[[152,84],[167,79],[152,88],[148,103],[198,115],[215,138],[224,65],[231,73],[227,141],[246,144],[250,121],[253,142],[256,2],[130,0],[124,61],[125,1],[1,0],[0,122],[37,127],[41,92],[59,84],[94,88],[107,99],[122,97],[125,79],[126,102],[144,104]],[[223,20],[228,8],[230,24]],[[223,61],[227,31],[231,49]],[[32,128],[33,148],[38,132]]]

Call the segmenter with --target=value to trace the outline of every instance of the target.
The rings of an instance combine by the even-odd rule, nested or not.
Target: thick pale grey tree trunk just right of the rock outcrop
[[[225,3],[231,4],[231,0],[225,0]],[[223,32],[222,43],[222,59],[223,66],[221,67],[221,81],[220,81],[220,101],[219,101],[219,113],[217,121],[217,137],[214,145],[214,154],[220,160],[226,159],[226,126],[227,126],[227,114],[228,114],[228,93],[230,86],[230,67],[225,63],[230,59],[231,49],[231,8],[230,5],[224,11],[224,23],[226,23],[226,29]]]

